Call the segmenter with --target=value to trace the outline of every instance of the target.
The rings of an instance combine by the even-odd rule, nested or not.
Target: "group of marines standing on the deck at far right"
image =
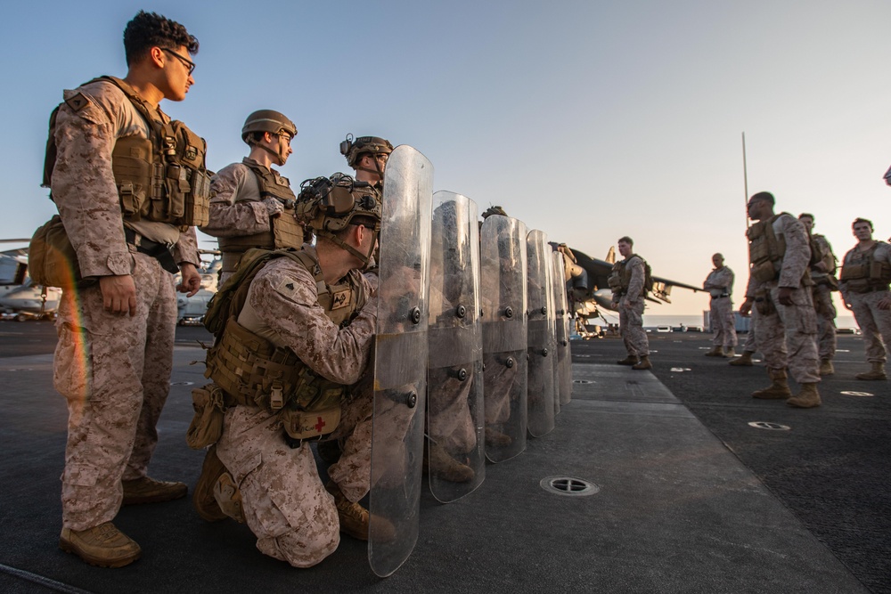
[[[832,292],[840,291],[846,307],[862,329],[871,370],[857,379],[887,379],[886,345],[891,344],[891,259],[888,245],[872,239],[870,221],[852,225],[858,243],[838,260],[825,236],[813,233],[814,217],[774,213],[770,192],[748,200],[749,279],[740,313],[752,321],[744,351],[731,365],[752,365],[756,351],[764,354],[771,385],[754,398],[783,399],[789,406],[812,408],[822,403],[817,391],[821,376],[835,373],[836,308]],[[711,294],[714,347],[706,356],[734,356],[737,344],[731,295],[733,273],[723,256],[712,256],[715,269],[703,288]],[[884,341],[884,344],[883,344]],[[792,395],[788,374],[801,387]]]

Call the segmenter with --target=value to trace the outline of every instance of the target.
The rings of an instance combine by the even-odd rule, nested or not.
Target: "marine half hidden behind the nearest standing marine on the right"
[[[814,233],[813,215],[802,213],[798,220],[805,225],[811,243],[811,280],[813,281],[813,310],[817,314],[817,354],[820,356],[820,375],[835,373],[832,359],[835,358],[838,338],[836,338],[836,308],[832,303],[832,291],[838,290],[835,278],[836,256],[826,236]]]

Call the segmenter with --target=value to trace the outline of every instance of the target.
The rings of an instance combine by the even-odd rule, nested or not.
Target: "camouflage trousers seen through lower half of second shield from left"
[[[477,447],[476,427],[482,423],[479,410],[482,402],[475,402],[478,390],[474,385],[474,368],[480,362],[468,362],[461,367],[428,370],[427,406],[430,439],[454,455],[465,454]],[[463,369],[467,378],[456,377]],[[482,376],[479,376],[482,378]],[[481,420],[481,419],[480,419]]]

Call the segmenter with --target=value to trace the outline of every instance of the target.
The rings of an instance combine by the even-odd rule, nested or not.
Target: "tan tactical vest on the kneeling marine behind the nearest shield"
[[[318,260],[308,252],[281,250],[275,256],[290,257],[313,275],[317,303],[339,327],[347,326],[363,307],[365,295],[358,289],[361,284],[356,271],[351,271],[345,282],[328,286]],[[340,402],[347,387],[316,375],[290,348],[275,346],[261,336],[260,329],[250,328],[257,320],[245,307],[249,304],[243,298],[241,303],[233,302],[222,336],[217,336],[208,351],[205,377],[225,391],[227,406],[282,411],[285,432],[292,439],[331,433],[339,424]]]

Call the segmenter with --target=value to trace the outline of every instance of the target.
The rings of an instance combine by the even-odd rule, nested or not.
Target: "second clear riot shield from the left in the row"
[[[448,503],[486,476],[477,205],[433,195],[430,230],[428,461],[430,491]]]

